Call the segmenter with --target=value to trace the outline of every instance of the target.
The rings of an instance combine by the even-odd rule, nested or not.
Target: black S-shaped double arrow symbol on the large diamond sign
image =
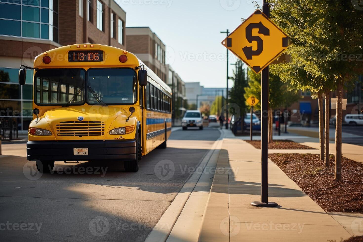
[[[243,48],[243,52],[248,60],[252,60],[252,56],[258,56],[264,51],[264,41],[260,36],[252,36],[252,29],[258,29],[259,34],[270,35],[270,30],[266,28],[261,22],[258,24],[249,24],[246,28],[246,38],[249,43],[252,44],[253,41],[257,42],[257,50],[252,50],[252,46],[246,46]]]

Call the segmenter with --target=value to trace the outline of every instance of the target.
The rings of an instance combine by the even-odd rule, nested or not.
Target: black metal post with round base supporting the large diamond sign
[[[262,12],[270,17],[269,4],[264,0]],[[268,110],[269,110],[269,70],[266,66],[261,74],[261,201],[251,202],[256,207],[276,207],[268,201]]]

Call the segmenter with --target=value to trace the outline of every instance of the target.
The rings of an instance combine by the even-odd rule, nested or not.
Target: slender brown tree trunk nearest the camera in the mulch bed
[[[343,98],[343,79],[338,79],[337,95],[337,121],[335,127],[335,180],[342,179],[342,98]]]

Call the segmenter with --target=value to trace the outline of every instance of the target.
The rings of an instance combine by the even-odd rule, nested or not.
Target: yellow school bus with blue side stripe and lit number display
[[[41,53],[34,67],[27,159],[50,172],[54,161],[123,161],[137,172],[142,156],[166,148],[171,89],[134,54],[97,44]]]

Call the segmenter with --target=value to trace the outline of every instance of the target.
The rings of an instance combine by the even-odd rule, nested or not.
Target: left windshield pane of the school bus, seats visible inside
[[[85,102],[86,72],[83,69],[41,69],[36,75],[37,104],[63,105],[73,97],[72,104]]]

